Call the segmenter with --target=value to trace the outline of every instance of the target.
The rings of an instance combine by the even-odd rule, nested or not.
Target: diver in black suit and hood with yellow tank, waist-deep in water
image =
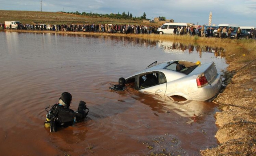
[[[50,106],[51,109],[49,111],[46,110],[49,107],[45,108],[48,113],[46,114],[44,126],[50,128],[50,132],[56,132],[58,127],[71,126],[74,122],[82,120],[88,115],[89,109],[86,107],[86,102],[80,101],[77,111],[74,111],[69,109],[71,101],[72,95],[68,92],[63,92],[59,97],[58,103]]]

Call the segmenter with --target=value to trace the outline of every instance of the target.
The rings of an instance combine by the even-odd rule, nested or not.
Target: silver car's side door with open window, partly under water
[[[165,94],[166,77],[162,72],[147,72],[137,75],[136,88],[141,92]]]

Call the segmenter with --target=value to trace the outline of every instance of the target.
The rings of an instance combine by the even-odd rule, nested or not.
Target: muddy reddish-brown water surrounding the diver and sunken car
[[[223,51],[146,39],[0,32],[0,151],[4,156],[141,156],[150,153],[197,156],[217,146],[211,102],[174,102],[133,89],[111,92],[119,77],[155,60],[227,67]],[[201,50],[200,50],[201,49]],[[45,107],[62,92],[90,109],[74,126],[51,133]]]

